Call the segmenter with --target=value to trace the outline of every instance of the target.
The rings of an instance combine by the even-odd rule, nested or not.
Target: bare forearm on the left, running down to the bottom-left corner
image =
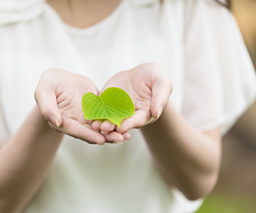
[[[43,182],[63,134],[35,106],[0,149],[0,212],[20,212]]]

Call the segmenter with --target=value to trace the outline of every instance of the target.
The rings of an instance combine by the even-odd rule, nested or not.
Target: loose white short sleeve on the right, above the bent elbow
[[[213,0],[185,0],[183,115],[201,131],[226,133],[255,100],[254,66],[232,13]]]

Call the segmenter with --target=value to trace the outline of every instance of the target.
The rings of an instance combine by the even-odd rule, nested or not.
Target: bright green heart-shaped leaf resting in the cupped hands
[[[120,127],[123,119],[133,116],[135,108],[129,94],[123,89],[110,87],[101,96],[85,93],[82,99],[85,119],[107,119]]]

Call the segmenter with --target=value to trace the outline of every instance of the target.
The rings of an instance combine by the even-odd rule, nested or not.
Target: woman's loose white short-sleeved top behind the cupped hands
[[[213,0],[169,0],[162,7],[157,0],[121,0],[87,29],[67,26],[44,1],[0,0],[0,47],[2,144],[34,106],[48,68],[87,75],[101,89],[116,72],[156,61],[173,82],[170,101],[200,131],[222,126],[226,133],[256,94],[233,16]],[[103,146],[66,136],[25,212],[194,212],[201,200],[170,189],[140,130],[131,133],[129,142]]]

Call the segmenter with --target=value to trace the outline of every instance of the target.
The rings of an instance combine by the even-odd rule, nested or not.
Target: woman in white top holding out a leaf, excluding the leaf
[[[1,211],[196,211],[218,178],[221,135],[255,98],[229,10],[210,0],[0,8]],[[82,95],[110,86],[135,102],[120,128],[80,116]]]

